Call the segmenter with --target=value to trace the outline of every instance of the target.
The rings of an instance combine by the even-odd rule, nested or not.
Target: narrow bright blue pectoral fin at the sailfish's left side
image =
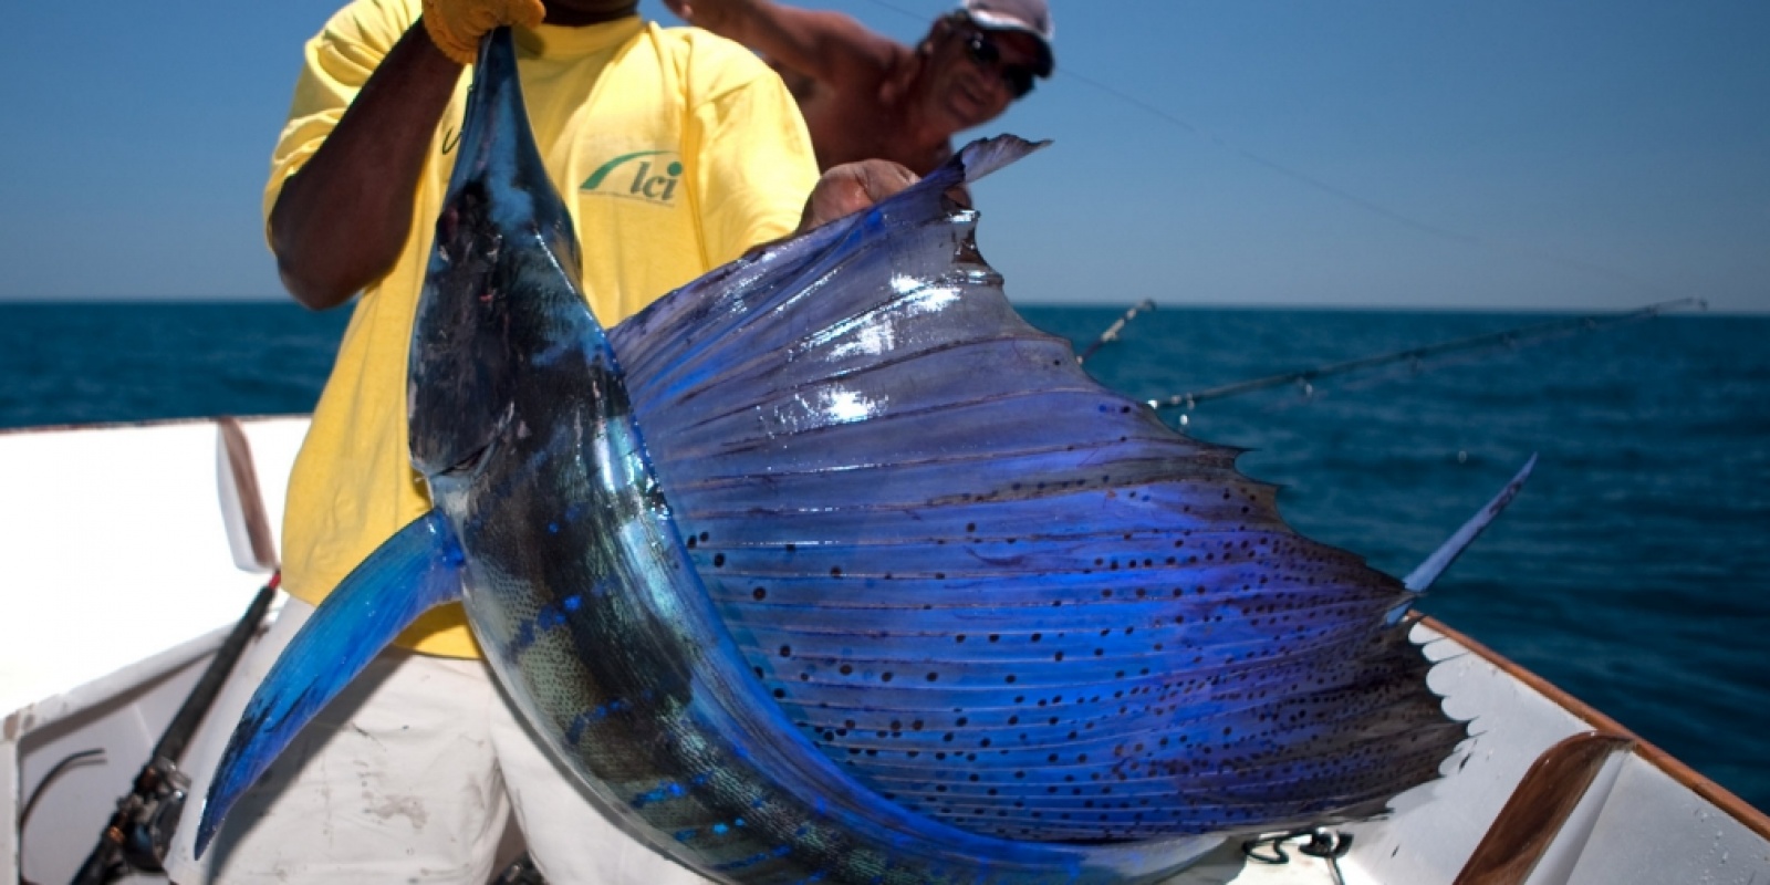
[[[375,549],[326,596],[253,692],[216,766],[196,857],[250,788],[320,708],[419,614],[460,600],[462,554],[435,510]]]

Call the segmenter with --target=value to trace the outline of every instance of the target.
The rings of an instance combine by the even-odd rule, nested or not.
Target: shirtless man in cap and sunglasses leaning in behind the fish
[[[664,0],[756,50],[798,99],[818,166],[883,158],[926,175],[952,136],[997,119],[1053,69],[1046,0],[965,0],[915,48],[841,12],[772,0]]]

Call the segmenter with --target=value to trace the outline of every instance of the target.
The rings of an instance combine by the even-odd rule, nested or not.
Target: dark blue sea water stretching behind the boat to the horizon
[[[1117,308],[1027,308],[1092,342]],[[0,428],[312,409],[347,315],[0,304]],[[1089,368],[1136,398],[1543,322],[1161,308]],[[1204,402],[1304,535],[1405,573],[1531,453],[1423,609],[1770,809],[1770,317],[1673,315]],[[1165,412],[1179,421],[1181,412]]]

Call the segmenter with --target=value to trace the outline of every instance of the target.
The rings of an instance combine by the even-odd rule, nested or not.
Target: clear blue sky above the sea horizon
[[[1055,140],[979,188],[1016,301],[1770,312],[1770,4],[1053,2],[1057,78],[975,133]],[[0,299],[283,297],[258,195],[333,7],[12,9]]]

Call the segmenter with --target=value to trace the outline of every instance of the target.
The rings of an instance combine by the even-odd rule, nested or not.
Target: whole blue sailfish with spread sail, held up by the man
[[[605,336],[494,34],[411,347],[435,510],[273,667],[198,851],[455,598],[593,802],[724,881],[1156,881],[1437,777],[1466,727],[1391,618],[1412,593],[1009,308],[956,186],[1035,147]]]

